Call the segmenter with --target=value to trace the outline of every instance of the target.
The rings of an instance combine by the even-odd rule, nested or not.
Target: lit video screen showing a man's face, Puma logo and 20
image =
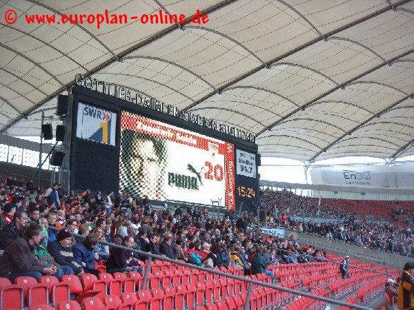
[[[235,207],[235,147],[161,121],[121,113],[119,187],[133,196]]]

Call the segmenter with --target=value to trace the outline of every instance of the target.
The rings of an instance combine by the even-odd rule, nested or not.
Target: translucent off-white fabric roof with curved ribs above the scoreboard
[[[57,23],[105,10],[128,21]],[[159,10],[188,19],[143,23]],[[207,23],[188,23],[197,10]],[[3,0],[0,132],[39,135],[81,73],[253,132],[262,156],[414,155],[413,13],[412,0]]]

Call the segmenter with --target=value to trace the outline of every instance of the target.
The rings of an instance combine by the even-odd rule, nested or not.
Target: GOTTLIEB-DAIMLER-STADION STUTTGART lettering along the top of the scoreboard
[[[217,130],[219,132],[223,132],[224,134],[241,138],[245,141],[250,141],[252,143],[255,143],[256,141],[255,134],[252,134],[251,132],[245,132],[237,127],[229,126],[225,123],[219,123],[213,119],[195,114],[191,111],[180,111],[178,107],[175,107],[174,105],[167,105],[164,102],[157,101],[157,99],[133,92],[132,90],[128,90],[128,88],[121,87],[119,85],[106,83],[105,81],[94,79],[90,76],[84,77],[82,74],[77,74],[75,76],[75,84],[88,88],[89,90],[95,90],[95,92],[101,92],[102,94],[106,94],[108,96],[113,96],[130,103],[141,105],[142,107],[146,107],[160,113],[181,118],[184,121],[189,121],[191,123],[207,127],[211,130]]]

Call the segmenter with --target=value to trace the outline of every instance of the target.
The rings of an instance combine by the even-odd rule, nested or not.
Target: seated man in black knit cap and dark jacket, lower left
[[[72,251],[72,235],[69,229],[61,229],[56,236],[57,240],[48,244],[48,252],[61,266],[72,268],[73,272],[81,276],[84,271],[78,264]]]

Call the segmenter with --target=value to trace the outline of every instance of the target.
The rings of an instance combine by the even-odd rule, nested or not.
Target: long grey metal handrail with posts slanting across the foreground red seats
[[[59,231],[60,230],[56,227],[49,227],[49,229],[52,229],[53,231]],[[85,236],[75,234],[75,233],[72,233],[72,232],[70,232],[70,234],[72,236],[86,238]],[[198,270],[201,270],[201,271],[207,271],[209,273],[214,273],[214,274],[217,274],[217,276],[225,276],[225,277],[228,277],[228,278],[233,278],[235,280],[241,280],[241,281],[244,281],[244,282],[248,282],[248,283],[250,283],[250,287],[249,287],[249,290],[248,290],[248,295],[247,295],[246,300],[250,300],[250,295],[251,295],[251,289],[250,288],[252,288],[253,285],[261,285],[262,287],[270,287],[271,289],[278,289],[279,291],[286,291],[287,293],[293,293],[295,295],[300,295],[300,296],[304,296],[304,297],[308,297],[308,298],[313,298],[313,299],[316,299],[316,300],[322,300],[323,302],[328,302],[328,303],[331,303],[331,304],[339,304],[341,306],[351,307],[353,309],[373,310],[372,308],[360,306],[359,304],[350,304],[348,302],[343,302],[341,300],[335,300],[335,299],[331,299],[331,298],[325,298],[325,297],[322,297],[322,296],[316,296],[316,295],[313,295],[313,294],[310,294],[310,293],[305,293],[305,292],[302,292],[302,291],[295,291],[294,289],[287,289],[285,287],[279,287],[279,286],[273,285],[273,284],[270,285],[266,282],[251,280],[251,279],[244,278],[244,277],[241,277],[241,276],[235,276],[233,274],[226,273],[226,272],[223,272],[223,271],[217,271],[217,270],[206,268],[206,267],[200,267],[200,266],[197,266],[197,265],[188,264],[187,262],[181,262],[180,260],[172,260],[171,258],[167,258],[167,257],[164,257],[164,256],[158,256],[156,254],[151,254],[151,253],[144,252],[144,251],[139,251],[139,250],[136,250],[136,249],[132,249],[130,247],[124,247],[122,245],[115,245],[115,243],[110,243],[110,242],[101,241],[101,240],[99,240],[99,243],[101,243],[102,245],[108,245],[110,247],[117,247],[119,249],[128,249],[128,251],[132,251],[132,252],[137,253],[141,256],[147,256],[149,262],[151,262],[152,258],[156,258],[157,260],[165,260],[167,262],[172,262],[172,263],[175,263],[177,265],[184,266],[184,267],[189,267],[189,268],[192,268],[192,269],[198,269]],[[146,270],[145,270],[145,273],[144,273],[144,280],[143,280],[142,288],[144,288],[145,285],[146,285],[146,281],[148,280],[149,271],[150,271],[150,263],[149,264],[147,263]],[[246,306],[245,306],[244,309],[245,310],[248,309],[248,303],[247,302],[246,302]]]

